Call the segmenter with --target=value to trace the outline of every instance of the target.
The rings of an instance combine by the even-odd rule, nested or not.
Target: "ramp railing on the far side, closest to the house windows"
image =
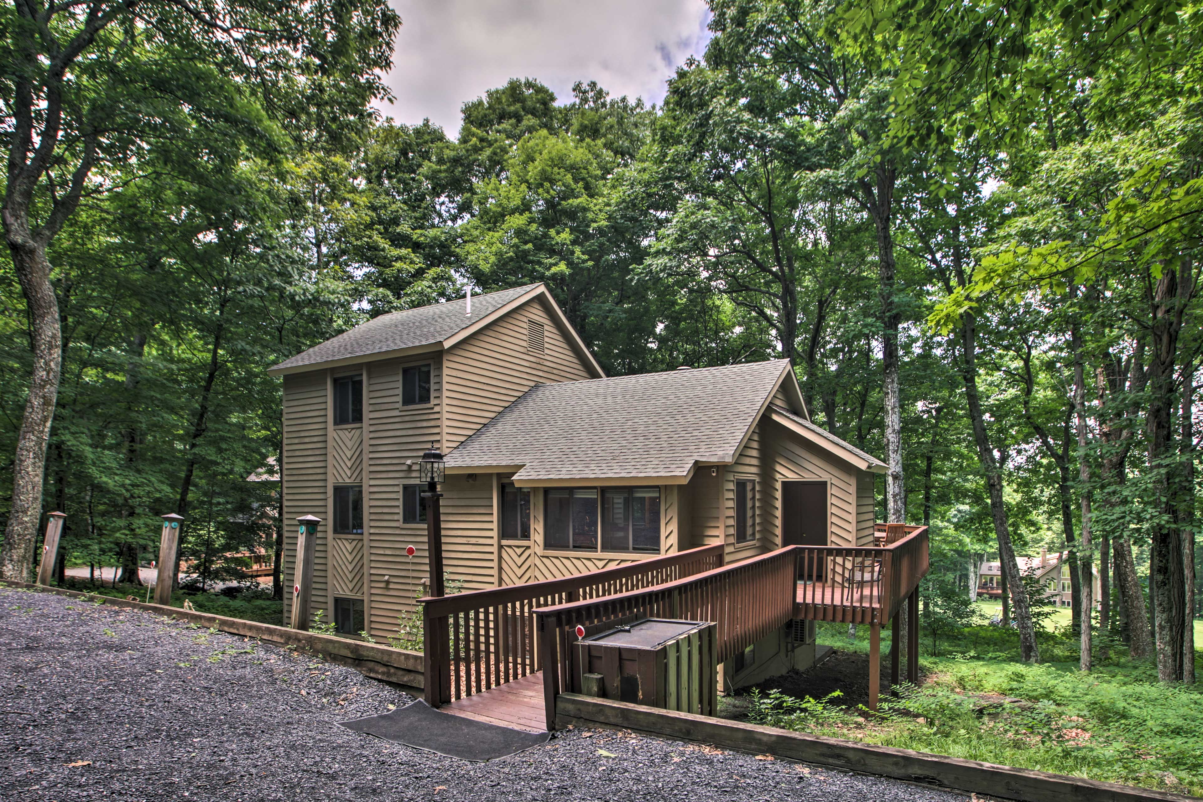
[[[426,701],[437,707],[539,671],[534,610],[614,598],[723,565],[723,547],[703,546],[562,580],[425,599]]]

